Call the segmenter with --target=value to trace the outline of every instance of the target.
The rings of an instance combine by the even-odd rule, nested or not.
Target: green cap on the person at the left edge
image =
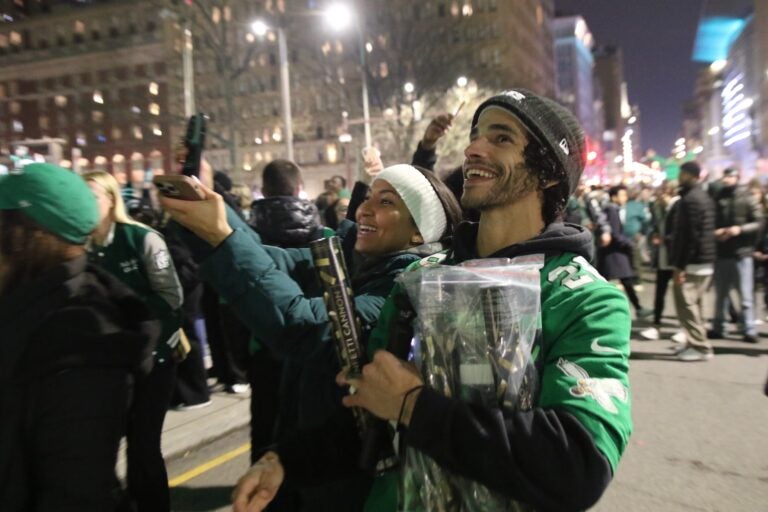
[[[77,174],[29,164],[0,178],[0,210],[20,210],[46,231],[82,245],[99,223],[96,198]]]

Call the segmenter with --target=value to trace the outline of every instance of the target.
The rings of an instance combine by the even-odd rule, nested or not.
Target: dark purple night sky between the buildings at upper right
[[[597,45],[620,46],[629,101],[640,106],[643,150],[667,155],[693,97],[691,60],[704,0],[555,0],[558,13],[581,14]]]

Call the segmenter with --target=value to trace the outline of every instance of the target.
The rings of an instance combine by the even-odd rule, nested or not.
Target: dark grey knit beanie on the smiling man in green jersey
[[[568,180],[570,193],[579,184],[586,162],[584,130],[568,109],[555,101],[538,96],[526,89],[510,89],[493,96],[475,111],[472,127],[488,107],[507,110],[525,126],[528,132],[552,157],[556,175]]]

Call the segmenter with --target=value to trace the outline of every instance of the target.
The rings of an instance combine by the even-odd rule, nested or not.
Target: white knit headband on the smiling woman
[[[376,175],[376,180],[384,180],[392,185],[405,203],[411,217],[419,228],[424,243],[440,240],[448,225],[443,203],[437,197],[434,187],[415,167],[398,164],[387,167]]]

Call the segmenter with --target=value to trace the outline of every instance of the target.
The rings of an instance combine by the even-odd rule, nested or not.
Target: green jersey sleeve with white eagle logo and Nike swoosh
[[[549,260],[541,282],[538,405],[575,416],[615,471],[632,432],[627,299],[570,253]]]

